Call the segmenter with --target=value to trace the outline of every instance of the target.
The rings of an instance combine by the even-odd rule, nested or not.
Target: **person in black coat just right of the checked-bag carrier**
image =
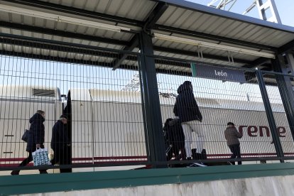
[[[70,138],[67,133],[67,116],[61,115],[52,129],[51,148],[54,151],[52,165],[70,165]],[[70,169],[61,169],[60,173],[70,173]]]

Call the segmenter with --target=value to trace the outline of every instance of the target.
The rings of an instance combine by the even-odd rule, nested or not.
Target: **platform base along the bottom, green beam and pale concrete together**
[[[21,194],[294,195],[294,163],[0,176],[0,195]]]

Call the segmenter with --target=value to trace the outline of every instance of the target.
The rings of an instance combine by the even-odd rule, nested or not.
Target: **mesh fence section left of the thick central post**
[[[137,56],[128,55],[112,70],[121,53],[46,47],[19,47],[28,50],[21,55],[13,41],[1,44],[1,167],[27,158],[28,143],[28,151],[43,144],[56,165],[146,162]],[[37,110],[45,111],[45,121],[30,121]],[[28,143],[21,141],[25,129]]]

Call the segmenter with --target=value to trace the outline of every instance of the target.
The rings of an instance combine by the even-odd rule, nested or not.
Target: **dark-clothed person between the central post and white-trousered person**
[[[185,159],[185,136],[179,119],[166,119],[163,126],[166,146],[166,159],[175,155],[176,160]]]

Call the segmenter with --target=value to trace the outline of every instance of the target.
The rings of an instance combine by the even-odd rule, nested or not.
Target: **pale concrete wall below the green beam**
[[[294,195],[294,175],[207,182],[105,188],[71,192],[50,192],[34,195]]]

